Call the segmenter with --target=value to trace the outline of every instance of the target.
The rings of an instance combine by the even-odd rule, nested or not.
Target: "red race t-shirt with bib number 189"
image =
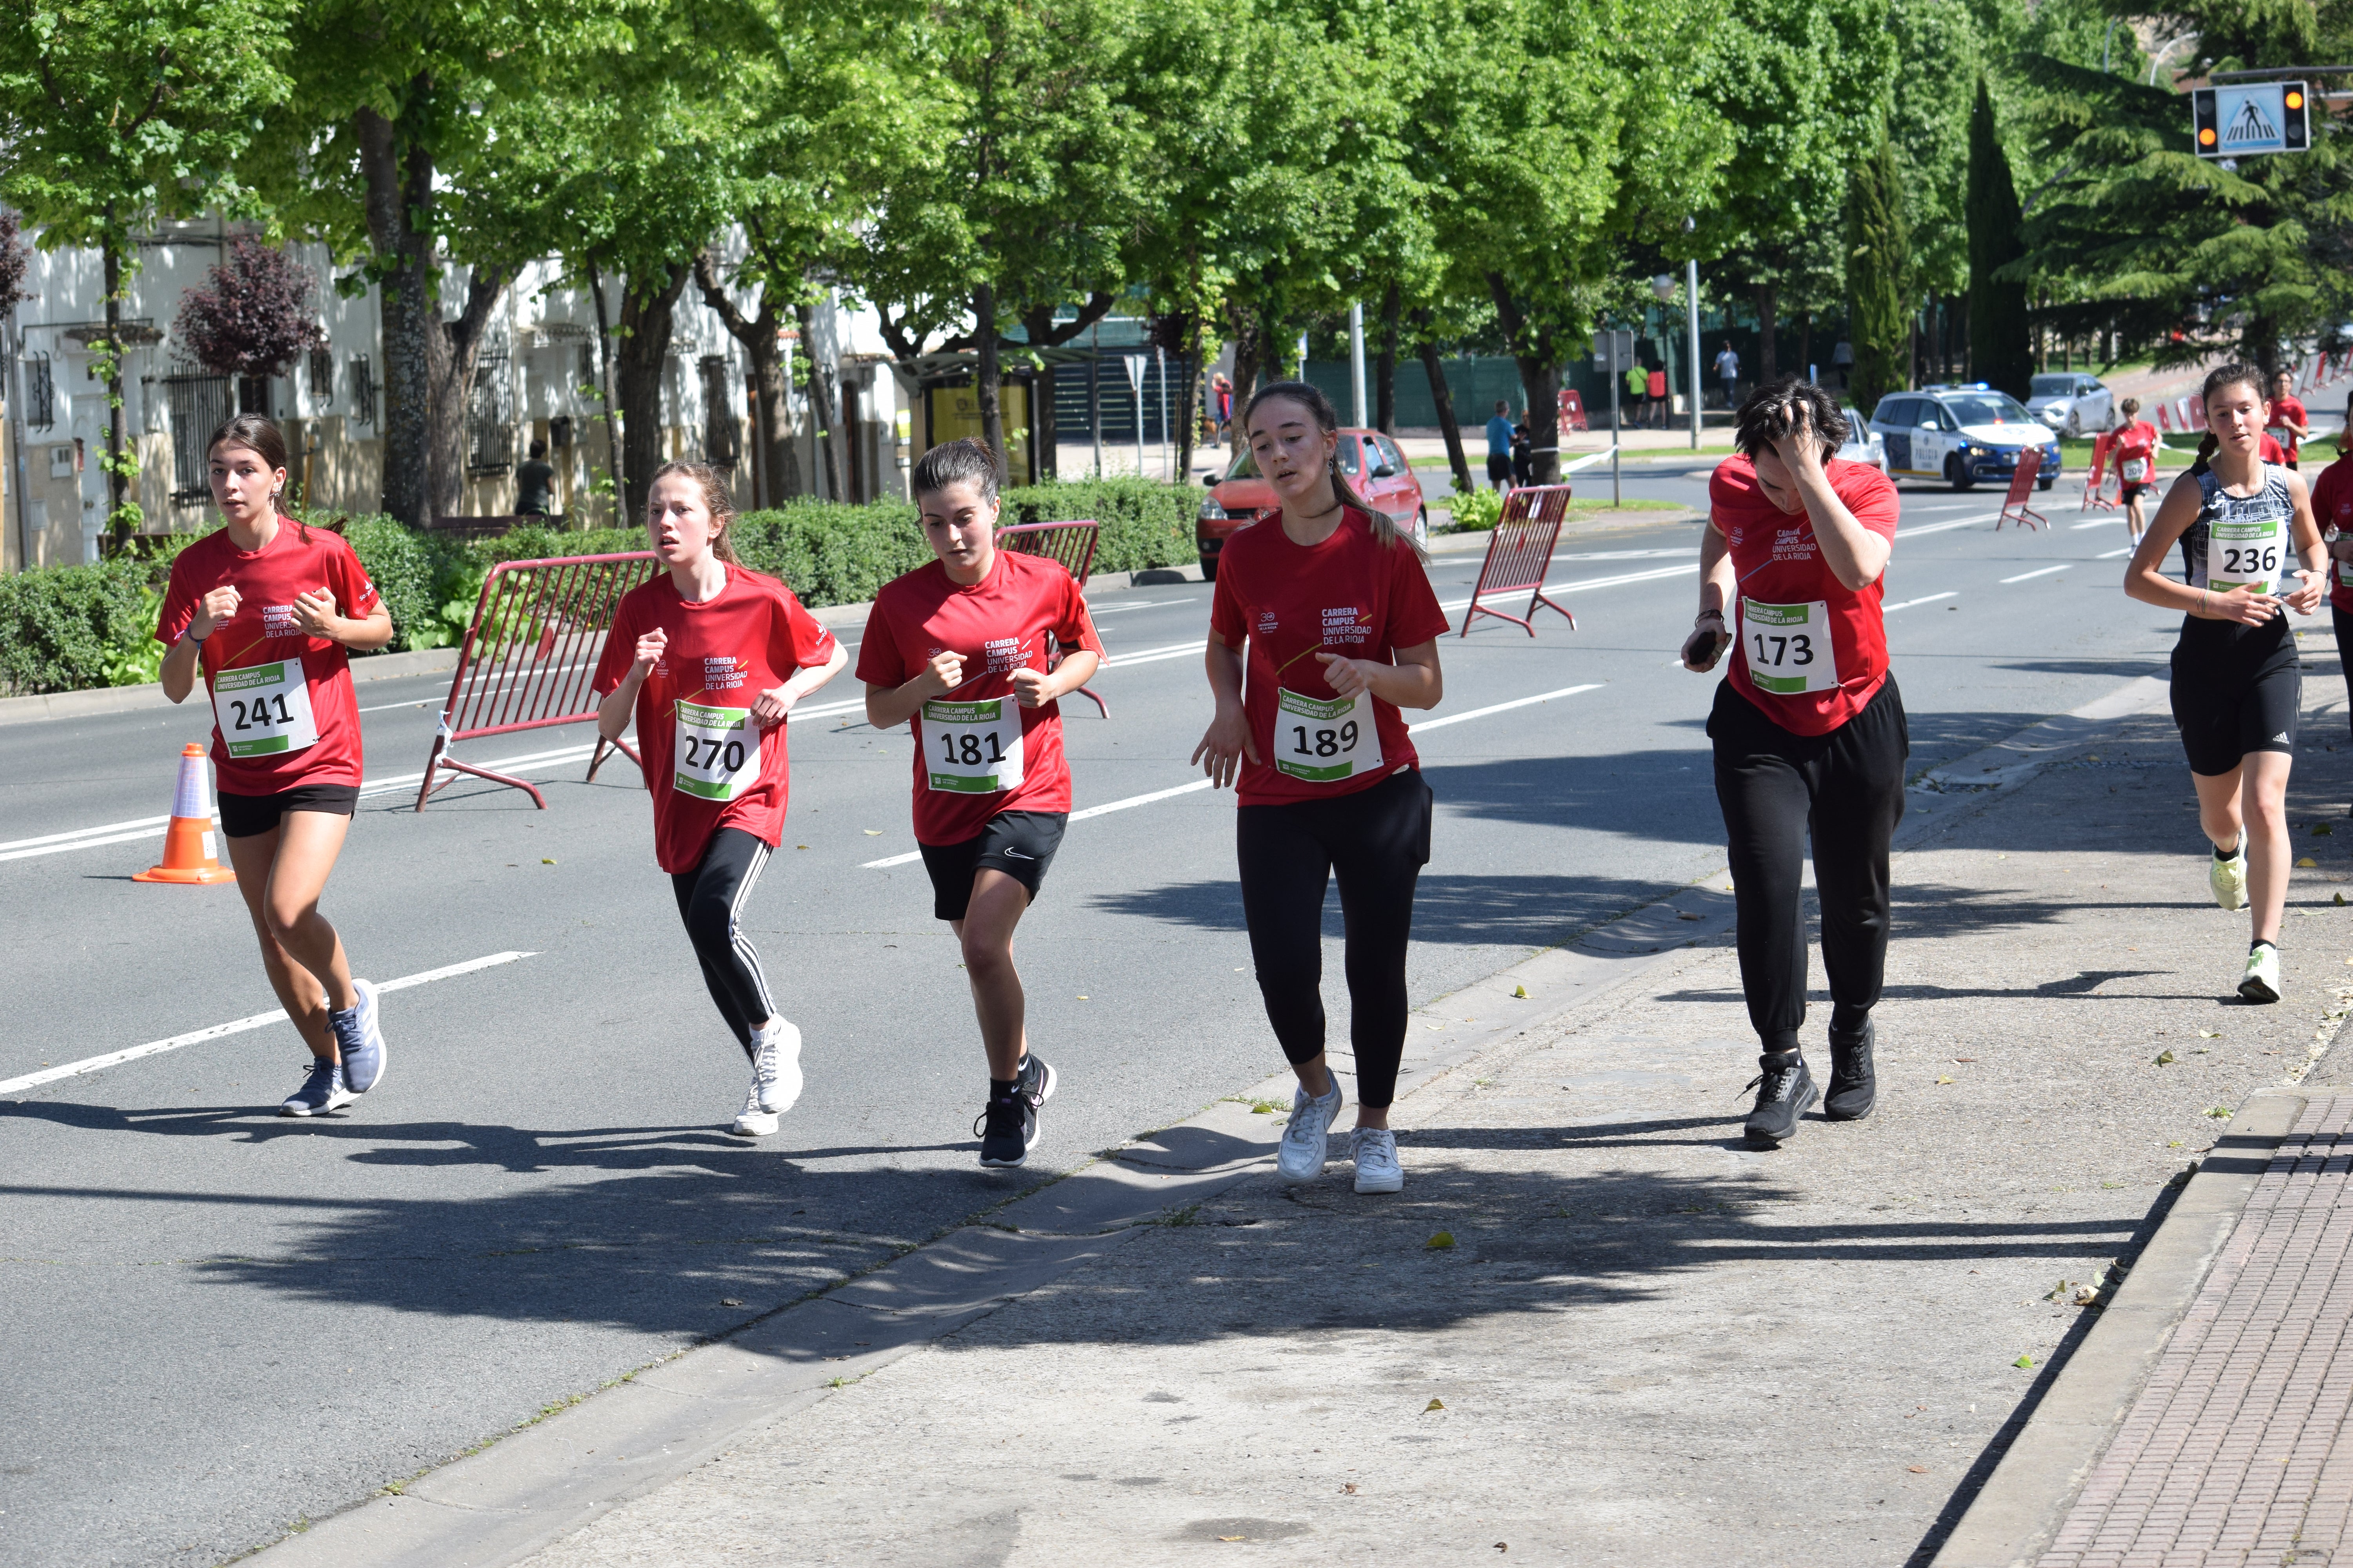
[[[1421,557],[1374,541],[1365,512],[1348,508],[1320,545],[1292,543],[1280,512],[1238,529],[1217,559],[1209,630],[1228,646],[1247,639],[1242,712],[1259,762],[1242,757],[1242,806],[1353,795],[1421,762],[1395,703],[1341,701],[1315,658],[1395,663],[1395,649],[1447,630]]]

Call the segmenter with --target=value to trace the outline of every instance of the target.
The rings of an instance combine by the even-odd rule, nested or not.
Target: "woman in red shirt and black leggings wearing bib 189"
[[[1445,691],[1447,616],[1412,541],[1339,473],[1339,414],[1304,381],[1242,411],[1252,461],[1282,501],[1226,541],[1209,607],[1217,717],[1193,748],[1217,788],[1238,780],[1242,919],[1266,1018],[1299,1074],[1275,1168],[1325,1168],[1339,1079],[1325,1063],[1322,900],[1339,877],[1348,931],[1358,1192],[1398,1192],[1388,1105],[1405,1056],[1405,952],[1431,858],[1431,788],[1400,708]],[[1245,656],[1247,644],[1247,656]]]

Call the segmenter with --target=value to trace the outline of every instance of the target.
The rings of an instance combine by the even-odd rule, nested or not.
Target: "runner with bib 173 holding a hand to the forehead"
[[[1831,978],[1824,1114],[1871,1114],[1871,1009],[1887,969],[1887,844],[1904,820],[1911,731],[1887,672],[1880,574],[1897,538],[1897,487],[1833,454],[1847,421],[1819,386],[1784,376],[1741,404],[1739,456],[1708,480],[1699,618],[1689,670],[1713,670],[1715,799],[1732,860],[1734,943],[1748,1023],[1762,1044],[1751,1143],[1774,1145],[1821,1098],[1798,1051],[1805,1023],[1807,837]],[[1725,607],[1739,604],[1739,635]]]

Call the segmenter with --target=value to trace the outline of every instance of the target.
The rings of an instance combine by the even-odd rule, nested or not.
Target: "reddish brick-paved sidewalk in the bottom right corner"
[[[2038,1568],[2332,1561],[2353,1514],[2353,1095],[2304,1107]]]

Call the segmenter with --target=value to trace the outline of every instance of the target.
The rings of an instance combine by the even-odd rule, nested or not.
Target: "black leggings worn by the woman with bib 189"
[[[1400,769],[1353,795],[1233,816],[1249,957],[1282,1056],[1297,1067],[1325,1048],[1322,898],[1339,877],[1355,1098],[1386,1107],[1405,1056],[1405,945],[1431,858],[1431,785]]]

